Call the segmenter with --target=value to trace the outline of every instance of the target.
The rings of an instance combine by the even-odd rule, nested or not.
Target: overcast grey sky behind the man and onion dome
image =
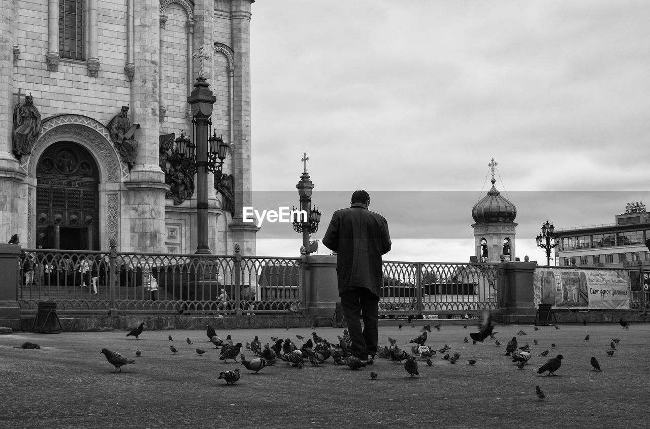
[[[534,237],[650,203],[650,1],[258,0],[252,5],[253,206],[298,204],[322,239],[352,191],[389,222],[387,260],[467,262],[473,205],[517,207]],[[258,255],[298,255],[290,224]],[[320,254],[329,254],[321,245]]]

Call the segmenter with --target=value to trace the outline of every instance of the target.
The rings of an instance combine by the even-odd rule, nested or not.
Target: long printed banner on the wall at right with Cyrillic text
[[[533,276],[537,304],[585,309],[629,309],[627,271],[543,270]]]

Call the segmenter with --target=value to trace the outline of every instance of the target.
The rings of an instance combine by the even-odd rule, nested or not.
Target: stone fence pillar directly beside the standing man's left
[[[307,314],[329,323],[339,300],[336,257],[309,255],[305,267],[305,307]]]

